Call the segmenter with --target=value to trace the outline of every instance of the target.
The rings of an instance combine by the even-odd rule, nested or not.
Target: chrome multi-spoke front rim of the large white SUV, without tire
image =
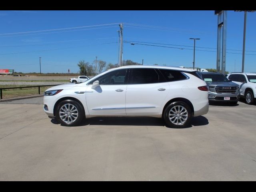
[[[60,108],[59,116],[65,123],[72,123],[78,118],[78,110],[72,104],[64,104]]]

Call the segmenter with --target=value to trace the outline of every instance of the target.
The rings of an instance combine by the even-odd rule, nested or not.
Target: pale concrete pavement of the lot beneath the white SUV
[[[210,106],[184,129],[158,118],[64,127],[29,100],[0,104],[2,181],[256,180],[255,105]]]

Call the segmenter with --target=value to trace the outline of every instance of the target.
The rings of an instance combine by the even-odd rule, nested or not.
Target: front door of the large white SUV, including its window
[[[123,81],[113,82],[114,77],[124,76]],[[125,97],[128,79],[127,69],[110,71],[98,78],[99,86],[92,89],[88,83],[86,90],[86,104],[90,115],[126,115]]]

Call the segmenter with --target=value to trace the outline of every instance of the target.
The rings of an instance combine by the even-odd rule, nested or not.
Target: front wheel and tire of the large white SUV
[[[68,110],[64,111],[64,108]],[[68,99],[58,103],[55,109],[55,118],[63,126],[76,126],[82,122],[85,115],[80,103],[75,100]]]

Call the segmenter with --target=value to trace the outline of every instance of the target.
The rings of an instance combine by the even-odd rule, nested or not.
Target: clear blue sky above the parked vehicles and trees
[[[245,72],[256,72],[256,12],[247,13]],[[214,11],[0,11],[0,69],[16,72],[78,72],[80,60],[118,62],[119,23],[124,60],[144,64],[216,68],[217,16]],[[227,13],[226,70],[242,68],[244,12]],[[63,29],[65,28],[65,29]],[[68,28],[68,29],[66,29]],[[35,32],[39,31],[39,32]],[[170,44],[170,45],[162,45]],[[175,46],[174,46],[175,45]],[[187,48],[187,49],[177,49]],[[188,50],[191,49],[191,50]],[[204,50],[204,51],[199,51]],[[238,50],[238,51],[236,51]],[[239,51],[240,50],[240,51]],[[231,54],[236,53],[236,54]]]

